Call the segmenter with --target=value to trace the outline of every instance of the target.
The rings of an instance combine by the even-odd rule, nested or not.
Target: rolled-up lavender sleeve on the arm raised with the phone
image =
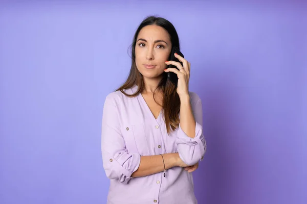
[[[195,137],[188,137],[179,124],[176,139],[177,150],[181,160],[190,166],[202,161],[207,149],[203,134],[203,108],[200,98],[198,98],[196,103],[192,104],[192,110],[196,121]]]

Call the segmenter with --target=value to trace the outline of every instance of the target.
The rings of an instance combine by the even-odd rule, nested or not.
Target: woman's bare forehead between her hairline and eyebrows
[[[169,34],[167,31],[158,25],[146,25],[141,29],[138,38],[145,40],[164,40],[170,41]]]

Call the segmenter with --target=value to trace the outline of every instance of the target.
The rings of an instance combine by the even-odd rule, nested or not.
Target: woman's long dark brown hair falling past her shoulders
[[[139,35],[140,30],[144,28],[146,25],[152,25],[152,24],[155,24],[155,25],[158,25],[164,28],[170,35],[172,46],[177,46],[180,49],[179,37],[178,37],[177,31],[171,22],[169,22],[165,18],[155,17],[155,16],[149,16],[145,18],[139,25],[139,28],[137,29],[134,35],[133,43],[131,44],[131,48],[132,48],[131,68],[130,68],[130,73],[128,75],[128,78],[126,82],[120,88],[116,90],[116,91],[121,91],[123,94],[125,94],[128,97],[135,97],[138,94],[142,93],[144,89],[143,77],[142,77],[142,74],[137,69],[137,65],[136,65],[135,47],[136,47],[137,37]],[[135,85],[138,86],[138,90],[135,93],[129,95],[124,92],[124,89],[131,88]],[[180,119],[179,119],[180,98],[177,93],[177,87],[173,85],[167,79],[167,73],[164,72],[162,74],[162,80],[158,84],[158,87],[156,88],[156,90],[157,89],[160,89],[163,91],[163,104],[162,104],[163,112],[162,113],[164,113],[167,133],[170,134],[170,132],[176,129],[180,123]],[[156,101],[155,91],[153,92],[153,99]]]

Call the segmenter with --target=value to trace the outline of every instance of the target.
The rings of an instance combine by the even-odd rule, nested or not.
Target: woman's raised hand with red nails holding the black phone
[[[178,76],[178,86],[177,86],[177,93],[179,96],[184,96],[189,94],[189,80],[190,80],[190,69],[191,69],[191,63],[189,63],[186,59],[178,55],[177,53],[174,54],[174,56],[183,63],[183,66],[179,62],[175,61],[166,61],[165,64],[167,65],[174,65],[177,66],[177,68],[168,68],[165,69],[165,72],[174,72]]]

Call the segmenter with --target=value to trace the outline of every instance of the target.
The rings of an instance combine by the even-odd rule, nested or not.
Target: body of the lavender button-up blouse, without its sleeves
[[[127,89],[132,94],[137,87]],[[117,94],[117,106],[121,135],[129,152],[141,156],[152,156],[177,152],[176,133],[166,132],[163,112],[156,119],[151,113],[141,94],[127,97],[121,92]],[[163,172],[136,177],[128,184],[111,180],[109,188],[109,204],[119,203],[197,203],[194,196],[192,173],[181,167],[173,167]]]

